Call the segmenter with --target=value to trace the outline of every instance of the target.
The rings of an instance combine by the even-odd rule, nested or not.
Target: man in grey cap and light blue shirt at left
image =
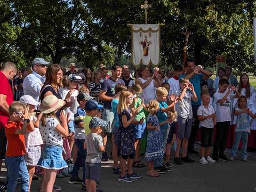
[[[43,58],[35,58],[32,61],[33,72],[25,77],[23,81],[24,94],[31,95],[36,101],[39,101],[40,90],[45,82],[46,69],[49,64],[50,62],[45,61]]]

